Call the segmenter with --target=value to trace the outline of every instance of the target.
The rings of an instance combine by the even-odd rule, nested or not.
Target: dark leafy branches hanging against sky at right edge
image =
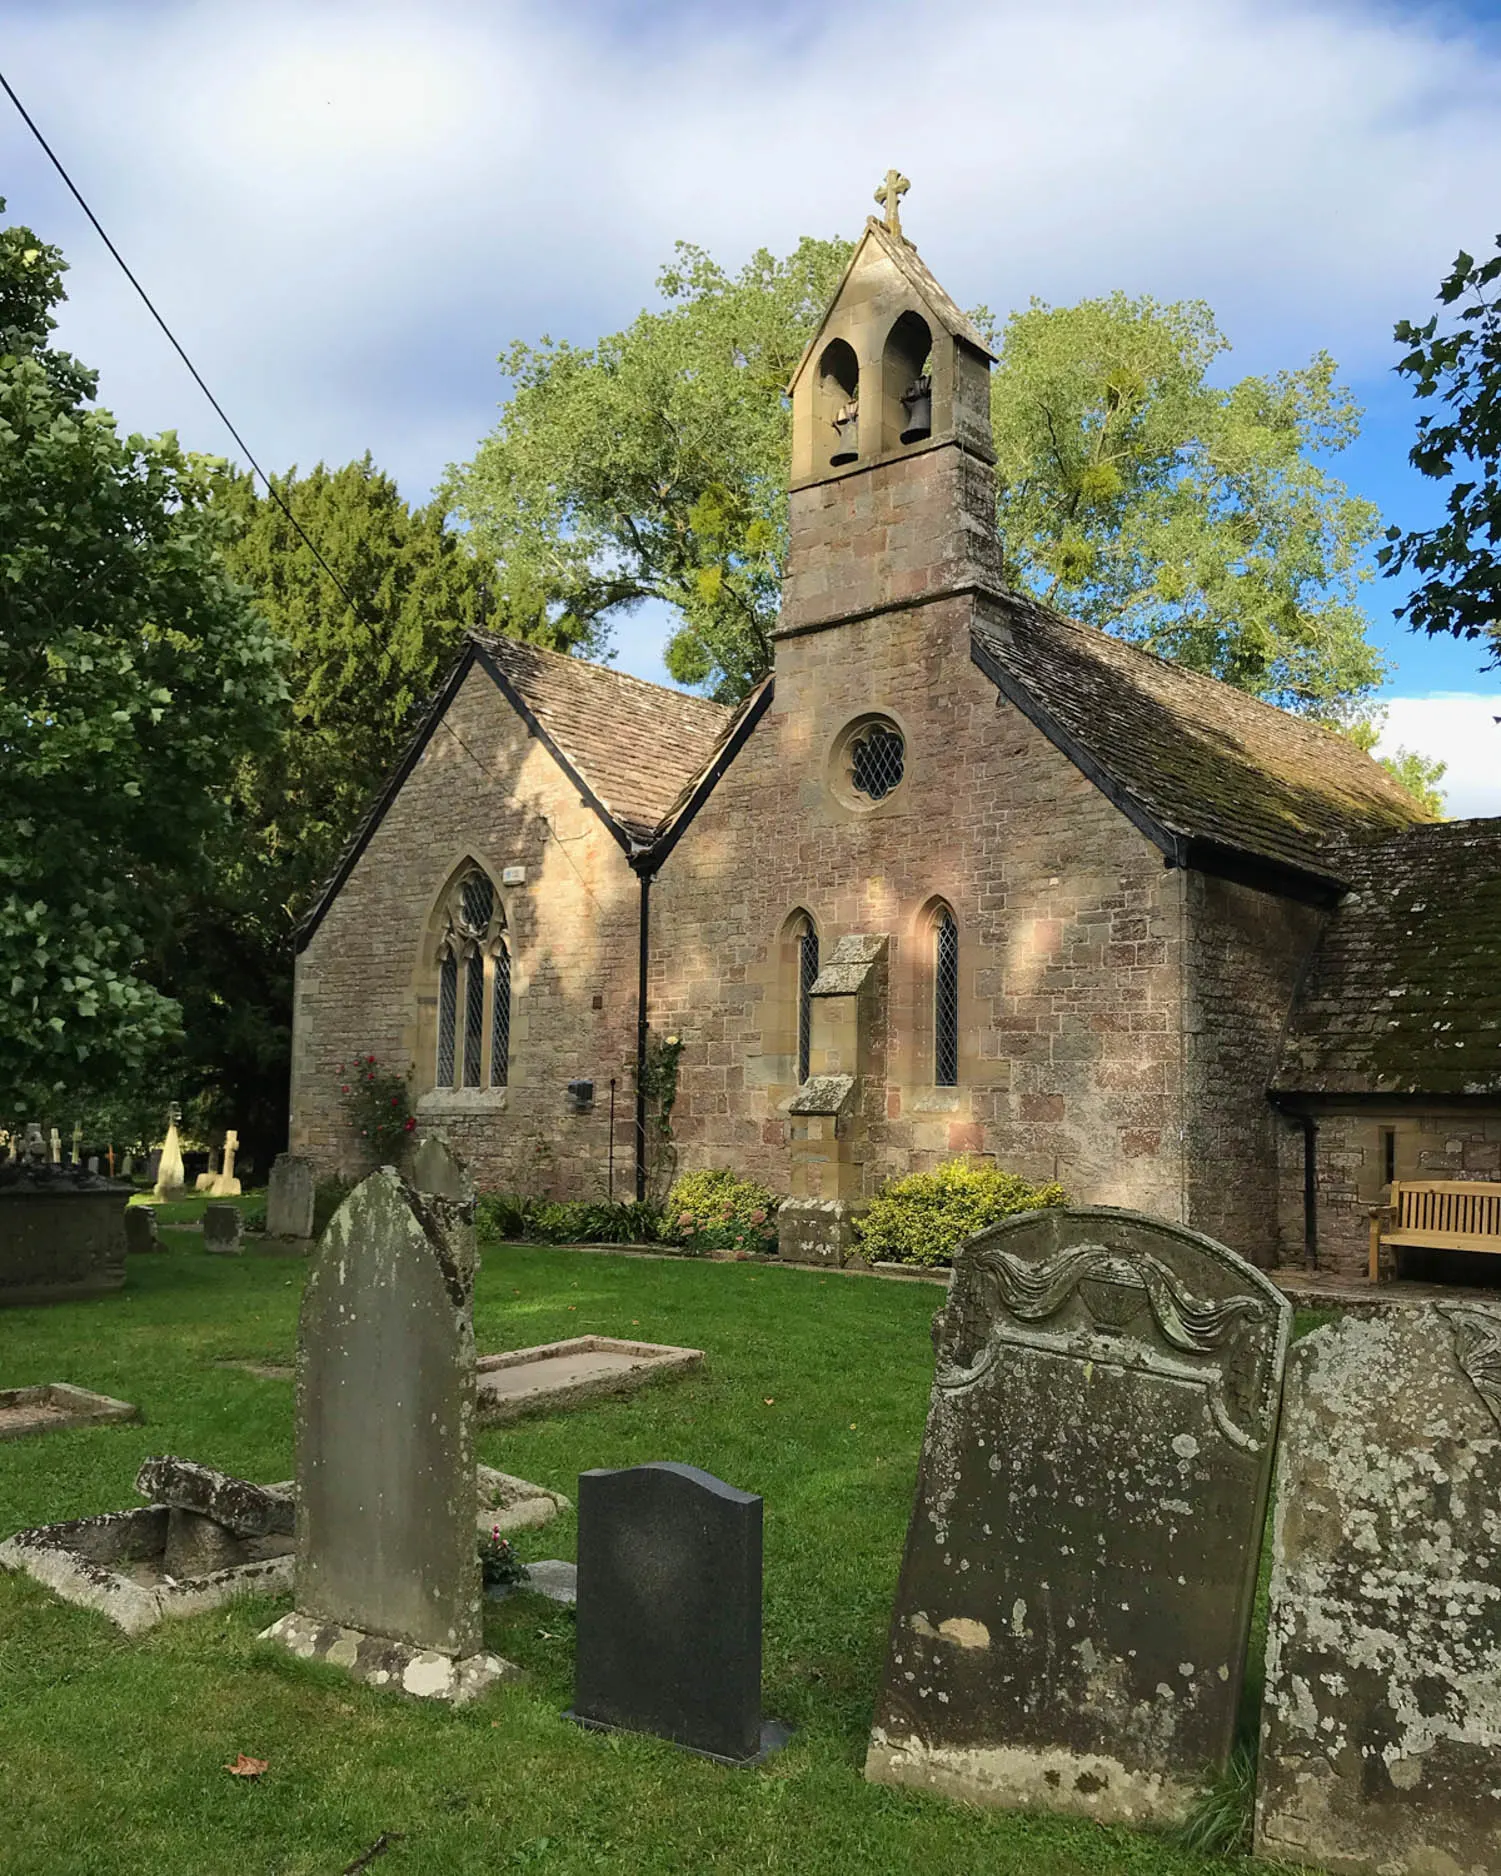
[[[1448,482],[1437,527],[1387,531],[1379,559],[1388,574],[1405,568],[1418,583],[1398,606],[1413,630],[1488,640],[1488,664],[1501,664],[1501,234],[1486,263],[1460,253],[1439,287],[1439,302],[1458,308],[1458,325],[1439,332],[1437,313],[1396,326],[1411,351],[1396,370],[1413,396],[1439,407],[1418,416],[1407,460],[1435,482]],[[1456,463],[1463,480],[1454,480]]]

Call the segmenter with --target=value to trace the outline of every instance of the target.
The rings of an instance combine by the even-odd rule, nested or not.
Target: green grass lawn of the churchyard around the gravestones
[[[178,1214],[186,1216],[186,1214]],[[137,1503],[174,1452],[246,1478],[293,1471],[293,1396],[225,1360],[289,1362],[300,1259],[218,1259],[163,1231],[113,1298],[0,1311],[0,1384],[73,1381],[143,1426],[0,1445],[0,1535]],[[705,1369],[480,1435],[480,1458],[574,1495],[593,1465],[681,1460],[766,1495],[766,1711],[797,1728],[758,1773],[585,1733],[572,1617],[486,1606],[525,1681],[475,1707],[377,1694],[255,1634],[287,1598],[128,1640],[0,1574],[0,1870],[6,1876],[332,1876],[402,1833],[377,1876],[679,1870],[1208,1872],[1163,1838],[979,1812],[861,1778],[932,1373],[932,1285],[537,1248],[484,1255],[480,1351],[572,1334],[707,1351]],[[574,1525],[523,1533],[572,1555]],[[270,1762],[233,1778],[238,1752]]]

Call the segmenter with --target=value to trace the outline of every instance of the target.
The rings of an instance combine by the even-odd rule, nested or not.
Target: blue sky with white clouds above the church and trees
[[[426,499],[505,398],[674,240],[735,266],[854,234],[897,163],[963,306],[1203,298],[1229,377],[1327,349],[1366,409],[1338,473],[1428,525],[1392,325],[1501,223],[1501,0],[0,0],[0,69],[268,469],[371,452]],[[64,248],[60,343],[124,428],[233,441],[0,98],[0,193]],[[1501,672],[1392,617],[1383,747],[1501,814]],[[664,681],[668,617],[615,640]]]

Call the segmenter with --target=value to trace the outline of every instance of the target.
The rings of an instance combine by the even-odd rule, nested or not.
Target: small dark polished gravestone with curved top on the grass
[[[570,1718],[655,1733],[735,1765],[762,1728],[762,1501],[692,1465],[578,1480]]]

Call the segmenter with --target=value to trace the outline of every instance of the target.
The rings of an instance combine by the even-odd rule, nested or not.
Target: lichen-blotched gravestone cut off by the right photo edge
[[[1501,1868],[1501,1306],[1345,1317],[1287,1369],[1257,1853]]]

